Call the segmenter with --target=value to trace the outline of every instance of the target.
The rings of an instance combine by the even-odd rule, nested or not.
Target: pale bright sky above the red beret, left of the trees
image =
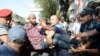
[[[0,0],[0,9],[11,9],[14,13],[28,17],[30,5],[34,3],[34,0]]]

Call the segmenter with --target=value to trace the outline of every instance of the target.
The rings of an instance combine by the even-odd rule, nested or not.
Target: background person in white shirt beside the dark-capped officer
[[[71,15],[70,16],[71,23],[69,24],[68,31],[71,32],[72,38],[74,37],[74,35],[76,35],[80,32],[81,23],[80,23],[79,19],[80,19],[79,15],[77,15],[77,16]]]

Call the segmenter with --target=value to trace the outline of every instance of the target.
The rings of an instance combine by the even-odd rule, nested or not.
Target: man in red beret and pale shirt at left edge
[[[0,10],[0,45],[7,43],[7,32],[11,27],[12,11],[9,9]]]

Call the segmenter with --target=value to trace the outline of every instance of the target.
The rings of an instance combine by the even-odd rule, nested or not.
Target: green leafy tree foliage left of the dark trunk
[[[41,16],[49,18],[51,15],[55,15],[58,9],[57,0],[37,0],[41,8]]]

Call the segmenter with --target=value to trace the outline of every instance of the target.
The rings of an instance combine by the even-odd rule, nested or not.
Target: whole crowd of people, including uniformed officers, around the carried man
[[[0,56],[100,56],[100,6],[84,8],[70,23],[52,15],[36,22],[12,24],[9,9],[0,10]]]

